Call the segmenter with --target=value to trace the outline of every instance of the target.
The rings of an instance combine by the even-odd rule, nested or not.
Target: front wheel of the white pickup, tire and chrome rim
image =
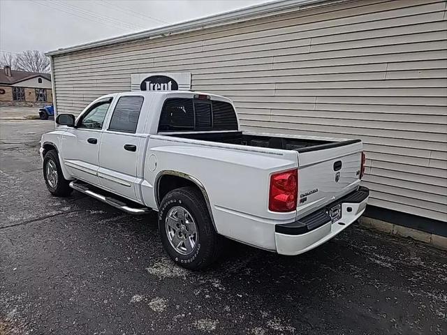
[[[62,174],[59,157],[56,150],[50,150],[43,158],[43,178],[48,191],[56,197],[67,197],[73,192],[68,180]]]

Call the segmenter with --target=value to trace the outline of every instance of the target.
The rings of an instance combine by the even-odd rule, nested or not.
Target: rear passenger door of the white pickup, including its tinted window
[[[136,133],[142,96],[120,96],[103,132],[99,147],[98,177],[101,186],[124,198],[139,200],[135,193],[138,156],[143,135]]]

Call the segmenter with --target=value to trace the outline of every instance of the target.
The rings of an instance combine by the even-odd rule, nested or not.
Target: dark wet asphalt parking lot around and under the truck
[[[446,334],[444,251],[353,225],[297,257],[228,242],[189,272],[155,215],[52,198],[38,142],[53,127],[1,117],[0,334]]]

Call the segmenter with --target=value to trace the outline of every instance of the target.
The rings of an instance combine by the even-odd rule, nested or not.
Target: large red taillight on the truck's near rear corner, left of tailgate
[[[270,211],[294,211],[298,199],[298,170],[272,174],[268,209]]]

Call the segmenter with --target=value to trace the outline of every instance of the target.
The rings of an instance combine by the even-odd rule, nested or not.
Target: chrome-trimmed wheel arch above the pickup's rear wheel
[[[193,186],[194,188],[197,188],[198,191],[200,191],[203,196],[203,200],[205,200],[205,204],[207,205],[208,213],[210,213],[210,218],[212,225],[214,226],[214,230],[216,230],[217,232],[216,224],[214,223],[214,217],[212,215],[210,198],[208,197],[205,186],[203,186],[203,184],[196,177],[193,177],[189,174],[174,170],[163,170],[156,175],[154,191],[157,208],[160,207],[161,200],[163,200],[163,197],[168,192],[184,186]]]

